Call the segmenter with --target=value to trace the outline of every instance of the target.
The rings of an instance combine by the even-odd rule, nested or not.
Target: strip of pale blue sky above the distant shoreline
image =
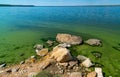
[[[0,4],[38,6],[119,5],[120,0],[0,0]]]

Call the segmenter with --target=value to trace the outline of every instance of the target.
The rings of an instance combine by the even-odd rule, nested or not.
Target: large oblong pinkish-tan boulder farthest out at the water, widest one
[[[58,42],[77,45],[82,43],[82,38],[80,36],[70,35],[70,34],[57,34],[56,40]]]

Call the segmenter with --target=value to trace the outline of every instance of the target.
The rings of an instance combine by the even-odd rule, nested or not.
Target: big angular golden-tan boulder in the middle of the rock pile
[[[70,51],[67,48],[55,47],[53,48],[51,58],[54,58],[57,62],[67,62],[72,60]]]

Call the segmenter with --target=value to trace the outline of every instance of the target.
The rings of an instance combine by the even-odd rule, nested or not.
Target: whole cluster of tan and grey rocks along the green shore
[[[80,36],[70,34],[57,34],[56,40],[59,44],[49,52],[48,48],[44,48],[43,45],[37,44],[34,46],[36,54],[41,56],[39,69],[46,70],[47,68],[56,68],[52,70],[52,74],[62,74],[63,77],[103,77],[102,68],[95,67],[95,70],[90,70],[89,67],[93,66],[90,58],[83,55],[73,57],[68,49],[71,45],[79,45],[83,43]],[[47,43],[52,45],[54,42],[48,40]],[[101,45],[101,41],[98,39],[88,39],[85,43],[89,45]],[[35,63],[35,56],[31,56],[25,61],[21,61],[20,64]],[[1,65],[3,66],[3,65]],[[16,72],[19,68],[7,70],[7,72]],[[35,73],[36,74],[36,73]],[[28,77],[33,77],[30,73]]]

